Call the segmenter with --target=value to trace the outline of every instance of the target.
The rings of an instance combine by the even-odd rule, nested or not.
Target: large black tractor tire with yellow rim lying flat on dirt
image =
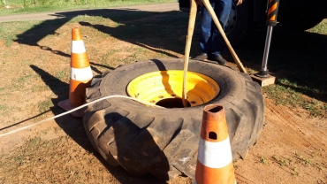
[[[182,59],[173,58],[153,59],[118,67],[103,74],[91,88],[87,88],[87,102],[103,96],[128,96],[131,81],[140,76],[145,77],[136,83],[150,81],[151,74],[148,73],[164,74],[166,71],[182,70]],[[203,107],[213,103],[224,106],[233,159],[247,156],[248,149],[255,144],[262,131],[264,105],[260,86],[247,74],[208,62],[191,59],[188,71],[209,81],[195,82],[194,88],[197,89],[194,89],[194,98],[200,96],[198,100],[202,103],[191,100],[189,102],[192,107],[163,109],[125,98],[110,98],[87,107],[83,117],[87,136],[110,165],[121,165],[136,176],[152,173],[159,179],[170,180],[186,174],[194,179]],[[192,73],[188,75],[190,78]],[[168,77],[153,85],[169,83],[175,79],[174,74],[168,74]],[[153,79],[157,79],[157,76]],[[151,82],[141,83],[140,90],[147,89],[150,85],[148,83]],[[179,95],[176,96],[173,92],[176,84],[172,83],[173,81],[160,90],[167,90],[171,97],[177,99]],[[146,97],[156,96],[156,89],[158,88],[146,91]],[[190,98],[194,96],[191,91],[187,93]],[[206,93],[209,94],[208,99],[202,96]],[[212,95],[215,93],[217,95]],[[139,98],[139,95],[141,96],[135,96]],[[163,97],[159,96],[158,99]]]

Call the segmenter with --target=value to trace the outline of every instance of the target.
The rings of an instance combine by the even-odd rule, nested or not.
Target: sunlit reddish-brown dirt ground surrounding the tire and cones
[[[80,21],[56,27],[54,34],[39,40],[35,36],[40,33],[27,32],[10,45],[2,40],[0,134],[63,112],[57,103],[68,97],[72,27],[85,35],[95,76],[135,60],[182,58],[180,50],[155,47],[156,40],[126,42]],[[327,183],[327,119],[276,105],[267,96],[264,102],[262,134],[247,157],[234,162],[237,182]],[[88,142],[82,119],[69,115],[0,137],[0,145],[0,183],[166,183],[106,164]],[[193,180],[180,176],[168,183]]]

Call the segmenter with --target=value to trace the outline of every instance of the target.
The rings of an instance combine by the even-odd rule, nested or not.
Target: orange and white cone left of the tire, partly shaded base
[[[69,85],[69,99],[61,101],[58,106],[70,111],[85,102],[86,88],[91,86],[93,78],[87,52],[78,27],[72,28],[71,80]],[[80,118],[84,110],[73,111],[73,117]]]

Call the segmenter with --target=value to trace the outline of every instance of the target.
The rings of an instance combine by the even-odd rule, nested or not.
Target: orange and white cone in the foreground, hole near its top
[[[209,104],[203,109],[194,183],[236,183],[224,107],[221,105]]]

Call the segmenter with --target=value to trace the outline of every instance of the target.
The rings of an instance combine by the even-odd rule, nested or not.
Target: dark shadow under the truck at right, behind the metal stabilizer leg
[[[257,28],[236,47],[243,65],[260,70],[266,27]],[[275,27],[272,35],[268,69],[278,79],[287,79],[297,87],[279,85],[327,102],[327,35],[309,32],[286,32]],[[232,58],[231,58],[232,59]]]

